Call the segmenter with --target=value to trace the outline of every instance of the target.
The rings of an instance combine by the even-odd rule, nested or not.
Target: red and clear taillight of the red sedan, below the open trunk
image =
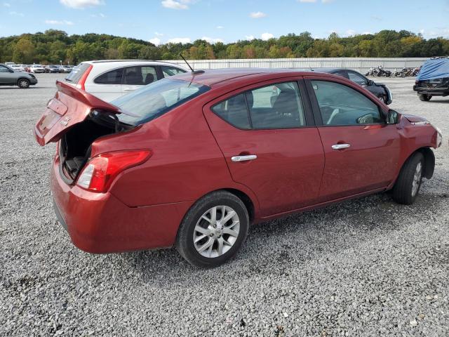
[[[152,152],[149,150],[132,150],[109,152],[93,157],[79,175],[76,185],[93,192],[106,192],[122,171],[143,164]]]

